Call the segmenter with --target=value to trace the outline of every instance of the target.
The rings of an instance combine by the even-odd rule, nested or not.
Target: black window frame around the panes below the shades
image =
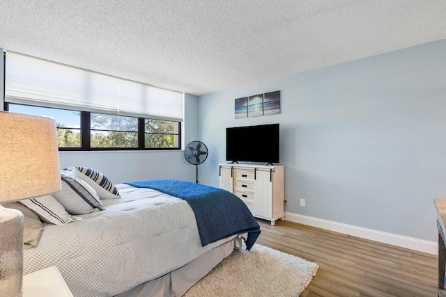
[[[3,97],[4,98],[4,97]],[[49,106],[36,106],[29,104],[16,104],[16,103],[8,103],[4,102],[3,108],[5,111],[9,111],[9,104],[15,105],[23,105],[23,106],[35,106],[35,107],[45,107],[47,109],[56,109],[54,107]],[[60,109],[63,110],[63,109]],[[59,152],[95,152],[95,151],[156,151],[156,150],[181,150],[181,122],[176,121],[166,121],[166,122],[175,122],[178,123],[178,134],[172,133],[160,133],[167,135],[178,135],[178,147],[145,147],[145,135],[146,135],[146,127],[145,120],[157,120],[151,118],[137,118],[138,119],[138,147],[91,147],[91,111],[78,111],[80,112],[80,133],[81,133],[81,147],[59,147]],[[102,113],[107,114],[107,113]],[[118,115],[119,116],[119,115]],[[127,116],[127,115],[123,115]],[[136,117],[134,117],[136,118]],[[110,130],[112,131],[112,130]]]

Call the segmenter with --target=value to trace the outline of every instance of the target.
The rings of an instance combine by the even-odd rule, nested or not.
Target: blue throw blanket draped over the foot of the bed
[[[137,188],[152,188],[186,200],[197,220],[201,246],[247,232],[246,249],[250,250],[261,232],[259,223],[245,203],[221,188],[176,179],[152,179],[125,184]]]

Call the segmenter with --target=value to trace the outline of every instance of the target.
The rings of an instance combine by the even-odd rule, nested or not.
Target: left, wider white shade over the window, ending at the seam
[[[115,77],[6,52],[6,102],[117,115],[118,86]]]

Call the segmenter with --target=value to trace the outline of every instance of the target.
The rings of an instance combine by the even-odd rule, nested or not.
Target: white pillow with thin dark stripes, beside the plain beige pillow
[[[82,220],[82,218],[68,214],[65,207],[57,202],[56,198],[52,195],[20,200],[19,202],[29,209],[36,211],[39,217],[47,223],[63,225],[75,220]]]

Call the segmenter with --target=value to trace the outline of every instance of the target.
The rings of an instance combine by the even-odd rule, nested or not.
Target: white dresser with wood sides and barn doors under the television
[[[284,166],[220,164],[220,188],[237,195],[255,217],[271,225],[284,218]]]

